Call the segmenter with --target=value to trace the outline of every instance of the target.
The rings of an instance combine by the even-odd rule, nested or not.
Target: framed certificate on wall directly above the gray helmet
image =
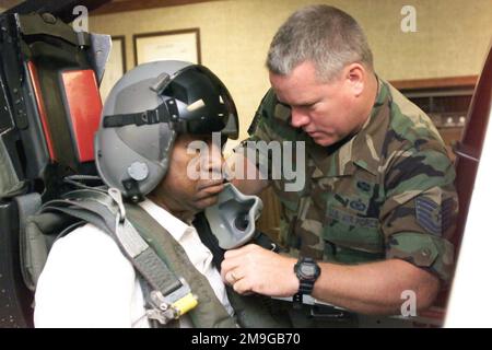
[[[163,59],[201,63],[200,30],[188,28],[133,35],[134,63]]]

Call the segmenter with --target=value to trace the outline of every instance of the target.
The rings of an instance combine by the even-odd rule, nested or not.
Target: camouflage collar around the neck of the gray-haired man
[[[377,75],[377,96],[362,129],[351,138],[328,148],[307,142],[307,152],[317,168],[312,177],[352,175],[356,167],[377,175],[379,156],[389,125],[390,94],[387,83]]]

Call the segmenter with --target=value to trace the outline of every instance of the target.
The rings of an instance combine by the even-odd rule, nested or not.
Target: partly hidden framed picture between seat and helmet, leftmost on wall
[[[112,36],[112,50],[99,86],[101,100],[106,101],[109,91],[127,71],[125,36]]]

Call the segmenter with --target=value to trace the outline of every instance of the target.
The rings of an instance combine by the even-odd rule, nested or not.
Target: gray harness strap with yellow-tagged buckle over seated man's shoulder
[[[148,317],[167,324],[197,305],[188,283],[155,254],[128,220],[120,221],[118,206],[103,191],[81,189],[52,200],[43,211],[55,211],[92,223],[109,234],[153,291]]]

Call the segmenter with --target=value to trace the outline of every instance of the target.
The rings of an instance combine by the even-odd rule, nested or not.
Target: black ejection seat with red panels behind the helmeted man
[[[51,14],[0,14],[0,327],[32,326],[20,255],[26,215],[95,174],[93,137],[110,37]]]

